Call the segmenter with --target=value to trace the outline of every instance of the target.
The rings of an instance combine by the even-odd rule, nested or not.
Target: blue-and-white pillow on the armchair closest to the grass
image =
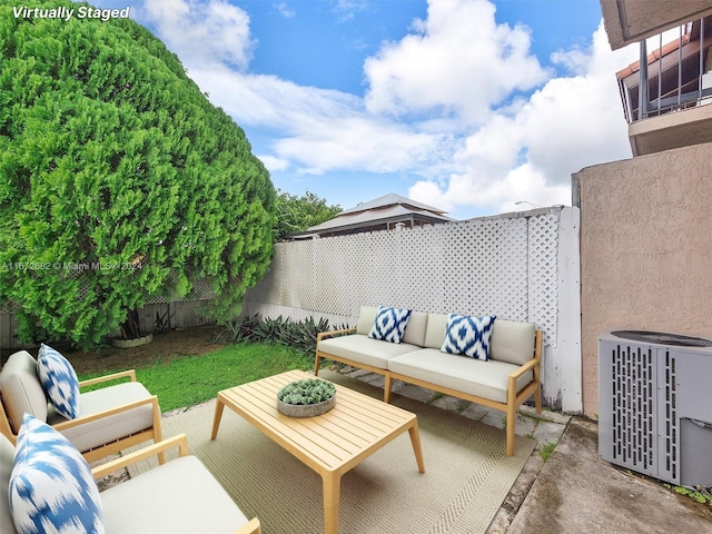
[[[52,347],[40,345],[37,376],[58,414],[68,419],[79,417],[79,379],[71,364]]]

